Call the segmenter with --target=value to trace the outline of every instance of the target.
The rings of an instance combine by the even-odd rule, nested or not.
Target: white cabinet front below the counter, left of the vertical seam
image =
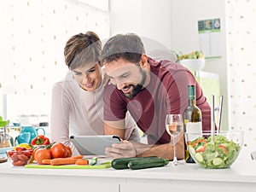
[[[14,169],[16,169],[15,167]],[[17,168],[19,169],[19,168]],[[77,175],[70,174],[70,172],[63,172],[61,174],[50,174],[52,170],[47,170],[48,173],[38,174],[38,170],[33,169],[31,172],[22,174],[0,173],[0,181],[2,189],[10,189],[9,191],[27,192],[71,192],[71,191],[93,191],[93,192],[119,192],[119,178],[108,178],[106,174],[100,174],[96,177],[87,176],[77,172]],[[29,170],[30,171],[30,170]],[[86,170],[83,170],[86,172]],[[55,171],[54,171],[55,172]],[[96,171],[95,171],[96,172]],[[9,186],[3,186],[3,183],[8,183]]]

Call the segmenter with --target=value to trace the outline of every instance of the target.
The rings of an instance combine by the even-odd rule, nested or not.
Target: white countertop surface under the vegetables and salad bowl
[[[195,164],[182,166],[168,165],[159,168],[142,170],[115,170],[108,169],[33,169],[23,166],[12,166],[11,163],[0,164],[0,174],[22,175],[49,175],[49,176],[76,176],[76,177],[119,177],[119,178],[143,178],[161,180],[187,180],[187,181],[215,181],[215,182],[239,182],[256,183],[256,160],[237,159],[227,169],[203,169]]]

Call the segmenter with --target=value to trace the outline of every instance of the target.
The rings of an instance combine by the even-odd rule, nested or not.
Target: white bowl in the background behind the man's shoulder
[[[199,72],[205,67],[206,60],[205,59],[183,59],[183,60],[180,60],[179,63],[183,65],[183,67],[189,68],[189,70],[192,72]]]

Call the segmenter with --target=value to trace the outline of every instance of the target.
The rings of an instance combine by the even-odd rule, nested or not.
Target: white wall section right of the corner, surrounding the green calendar
[[[198,20],[220,18],[221,59],[207,60],[203,71],[218,73],[220,94],[224,96],[222,127],[229,127],[227,63],[226,63],[226,25],[224,0],[172,0],[172,49],[189,53],[200,49]]]

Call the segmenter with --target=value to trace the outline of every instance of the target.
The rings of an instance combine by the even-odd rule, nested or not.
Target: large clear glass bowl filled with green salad
[[[229,168],[236,160],[243,144],[243,131],[221,131],[214,134],[212,142],[211,132],[185,133],[189,154],[195,163],[203,168]]]

